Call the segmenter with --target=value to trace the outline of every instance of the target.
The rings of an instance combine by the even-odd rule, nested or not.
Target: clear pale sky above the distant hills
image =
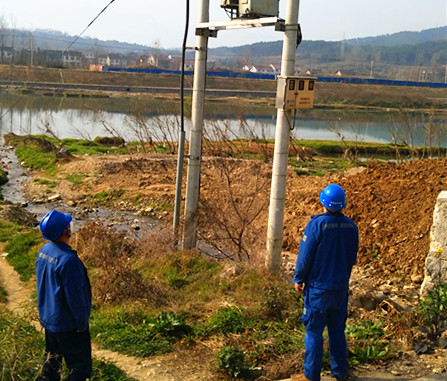
[[[280,1],[285,17],[288,0]],[[110,0],[0,0],[0,18],[16,29],[53,29],[80,34]],[[210,21],[228,19],[220,0],[210,0]],[[190,0],[188,45],[195,43],[199,0]],[[115,0],[83,34],[162,48],[180,48],[186,0]],[[446,0],[302,0],[304,40],[340,41],[447,25]],[[209,46],[239,46],[282,39],[273,27],[220,31]],[[75,46],[73,47],[75,48]]]

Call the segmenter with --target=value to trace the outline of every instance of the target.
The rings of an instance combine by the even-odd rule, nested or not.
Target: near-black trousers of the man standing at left
[[[92,374],[90,332],[50,332],[45,330],[45,363],[37,380],[60,381],[62,359],[69,374],[67,381],[85,381]]]

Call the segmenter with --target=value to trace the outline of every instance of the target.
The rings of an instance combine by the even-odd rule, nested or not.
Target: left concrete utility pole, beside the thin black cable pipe
[[[198,22],[207,23],[208,21],[209,0],[201,0],[199,4]],[[188,177],[186,183],[185,221],[183,227],[184,250],[190,250],[196,246],[196,220],[200,190],[200,167],[202,164],[202,130],[208,34],[204,33],[203,35],[198,36],[196,43],[191,131],[189,137]]]

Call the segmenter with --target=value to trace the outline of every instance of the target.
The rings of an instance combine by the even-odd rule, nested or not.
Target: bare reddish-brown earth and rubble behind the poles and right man
[[[261,260],[271,164],[227,160],[227,164],[211,158],[204,160],[202,206],[214,211],[215,218],[219,219],[219,210],[225,209],[222,201],[230,197],[244,213],[255,213],[255,221],[247,226],[244,245],[252,258]],[[35,203],[54,206],[54,203],[63,202],[75,206],[79,218],[83,210],[107,202],[116,209],[133,212],[134,228],[138,230],[141,218],[151,217],[154,221],[172,218],[168,205],[174,199],[176,165],[176,157],[168,155],[83,156],[61,164],[51,188],[44,181],[31,179],[26,182],[25,191]],[[319,192],[328,183],[338,183],[347,193],[345,214],[357,223],[360,231],[358,265],[352,277],[351,315],[366,318],[374,314],[376,308],[381,308],[388,319],[386,324],[396,324],[392,319],[396,311],[414,306],[418,301],[433,209],[439,192],[447,190],[446,173],[446,159],[371,163],[367,168],[324,177],[299,176],[290,170],[284,218],[284,273],[290,275],[293,270],[309,217],[320,212]],[[77,181],[70,177],[73,174]],[[44,175],[34,173],[33,178],[43,179]],[[98,196],[101,194],[103,199]],[[247,204],[247,200],[252,202]],[[212,226],[199,222],[201,237],[212,239]],[[402,324],[396,329],[405,331],[408,327]],[[383,370],[395,376],[417,377],[447,371],[445,349],[417,356],[412,350],[415,338],[402,337],[407,341],[408,351],[399,360],[359,368],[357,374],[366,372],[373,376],[374,372]]]

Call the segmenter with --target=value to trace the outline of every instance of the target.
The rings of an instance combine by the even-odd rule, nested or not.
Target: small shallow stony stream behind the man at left
[[[3,198],[13,204],[20,204],[33,214],[37,221],[50,210],[57,209],[73,216],[73,231],[76,232],[88,222],[97,222],[128,235],[140,237],[155,229],[158,220],[153,217],[137,216],[134,212],[83,206],[69,206],[62,201],[33,203],[25,198],[23,182],[31,178],[30,172],[22,167],[12,147],[0,144],[0,160],[8,172],[8,182],[2,186]]]

